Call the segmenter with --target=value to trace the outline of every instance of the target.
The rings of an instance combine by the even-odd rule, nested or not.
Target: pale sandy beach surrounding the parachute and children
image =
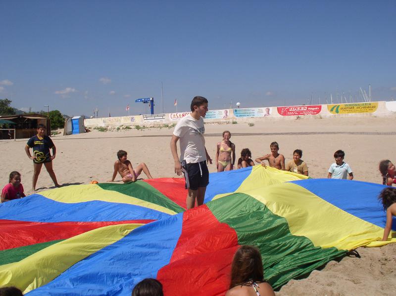
[[[309,176],[326,178],[334,163],[333,154],[342,149],[345,162],[353,170],[354,180],[381,183],[378,163],[395,160],[392,141],[396,132],[390,123],[394,117],[344,117],[298,120],[251,120],[254,126],[239,124],[206,124],[205,140],[209,155],[215,159],[216,143],[224,130],[231,131],[237,158],[243,148],[249,148],[252,158],[270,152],[269,144],[277,141],[286,161],[295,149],[302,149]],[[60,184],[86,184],[92,180],[106,182],[111,178],[116,152],[128,152],[133,166],[145,162],[156,177],[177,177],[169,142],[173,128],[144,128],[100,132],[93,130],[78,135],[53,136],[57,149],[53,168]],[[25,154],[27,139],[1,140],[0,176],[3,185],[12,170],[22,174],[25,192],[30,193],[32,161]],[[214,161],[209,171],[216,171]],[[144,178],[146,177],[142,174]],[[120,177],[116,177],[120,182]],[[37,183],[38,191],[53,188],[43,167]],[[373,197],[376,198],[376,197]],[[385,214],[385,213],[384,213]],[[361,258],[346,257],[331,261],[307,278],[292,280],[277,295],[396,295],[396,244],[382,248],[359,248]]]

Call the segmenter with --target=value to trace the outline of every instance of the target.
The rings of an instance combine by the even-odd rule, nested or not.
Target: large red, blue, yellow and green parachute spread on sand
[[[396,242],[378,241],[383,188],[255,166],[210,174],[205,205],[190,211],[183,179],[40,192],[0,205],[0,286],[130,296],[151,277],[166,296],[224,295],[236,250],[255,245],[276,289],[348,250]]]

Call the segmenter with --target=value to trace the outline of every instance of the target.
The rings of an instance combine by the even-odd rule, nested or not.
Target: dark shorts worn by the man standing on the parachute
[[[209,184],[209,170],[206,161],[186,164],[182,162],[184,178],[186,179],[186,189],[197,190],[198,187],[206,187]]]

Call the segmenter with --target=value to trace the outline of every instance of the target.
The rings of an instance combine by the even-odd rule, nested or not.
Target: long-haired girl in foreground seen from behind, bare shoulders
[[[230,290],[226,296],[275,296],[264,280],[260,251],[253,246],[242,246],[234,255],[231,265]]]

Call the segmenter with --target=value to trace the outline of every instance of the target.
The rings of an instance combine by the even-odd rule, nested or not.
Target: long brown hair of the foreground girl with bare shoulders
[[[242,246],[232,261],[230,289],[249,282],[264,282],[263,263],[256,247]]]

